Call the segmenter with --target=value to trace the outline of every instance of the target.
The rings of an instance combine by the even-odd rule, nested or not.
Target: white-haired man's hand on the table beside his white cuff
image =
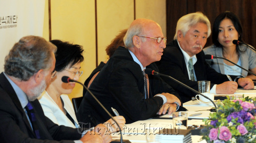
[[[216,85],[217,94],[234,94],[238,89],[238,83],[234,81],[225,81]]]

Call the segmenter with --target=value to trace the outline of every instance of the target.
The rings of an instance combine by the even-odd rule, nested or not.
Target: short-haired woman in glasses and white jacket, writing
[[[80,63],[83,61],[82,46],[62,42],[60,40],[50,41],[57,46],[55,53],[56,64],[52,74],[51,83],[48,84],[46,91],[39,97],[39,102],[44,110],[45,116],[58,125],[65,125],[78,128],[78,121],[75,116],[73,105],[67,94],[70,94],[75,87],[75,82],[64,83],[62,76],[68,76],[78,80],[82,74]],[[122,116],[114,117],[122,128],[125,119]],[[105,125],[112,125],[112,131],[117,131],[117,126],[113,125],[112,119],[105,122]]]

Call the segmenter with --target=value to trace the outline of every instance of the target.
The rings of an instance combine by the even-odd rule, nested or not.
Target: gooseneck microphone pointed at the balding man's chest
[[[204,98],[207,98],[208,100],[210,100],[210,102],[212,102],[212,104],[214,104],[214,106],[215,106],[215,111],[216,111],[217,106],[216,106],[216,104],[214,103],[214,101],[212,101],[212,100],[211,100],[210,98],[208,98],[207,96],[205,96],[205,95],[199,93],[198,91],[196,91],[196,90],[194,90],[194,89],[188,87],[188,85],[186,85],[186,84],[180,82],[179,80],[173,78],[172,76],[165,75],[165,74],[161,74],[161,73],[156,72],[155,70],[152,70],[152,69],[150,69],[150,68],[145,69],[145,73],[146,73],[146,74],[149,74],[149,75],[151,75],[151,74],[154,75],[154,74],[155,74],[155,75],[165,76],[165,77],[168,77],[168,78],[174,80],[175,82],[178,82],[178,83],[181,84],[183,87],[185,87],[185,88],[187,88],[187,89],[189,89],[189,90],[195,92],[196,94],[200,94],[200,95],[203,96]]]

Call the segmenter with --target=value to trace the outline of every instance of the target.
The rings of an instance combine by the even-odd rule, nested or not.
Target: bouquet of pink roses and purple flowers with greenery
[[[217,111],[204,119],[206,127],[201,130],[207,142],[245,143],[256,142],[256,99],[249,97],[219,102]]]

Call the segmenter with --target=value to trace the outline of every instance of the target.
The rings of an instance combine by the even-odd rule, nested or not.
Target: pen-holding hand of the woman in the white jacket
[[[114,120],[117,122],[117,124],[120,126],[121,130],[123,130],[123,126],[125,124],[125,119],[123,116],[115,116]],[[104,123],[105,126],[107,126],[107,129],[110,132],[117,132],[119,131],[119,128],[117,126],[117,124],[112,120],[108,120]]]

